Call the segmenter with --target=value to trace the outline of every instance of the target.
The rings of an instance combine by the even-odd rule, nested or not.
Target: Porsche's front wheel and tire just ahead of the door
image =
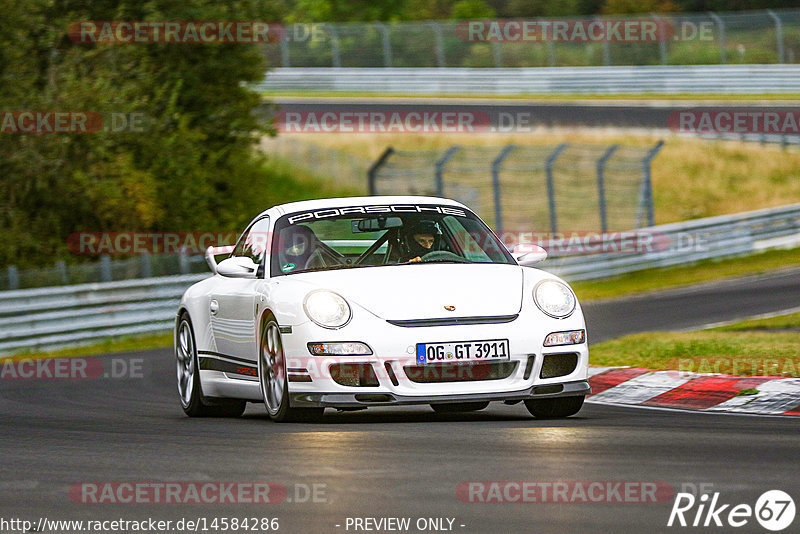
[[[270,419],[276,423],[316,421],[324,408],[292,408],[289,404],[289,384],[286,358],[283,353],[280,328],[275,317],[268,315],[262,323],[258,347],[258,382],[261,396]]]

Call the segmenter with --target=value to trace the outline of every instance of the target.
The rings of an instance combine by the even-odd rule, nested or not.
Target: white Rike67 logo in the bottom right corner
[[[764,492],[756,500],[755,506],[723,503],[719,492],[710,497],[703,493],[699,498],[691,493],[678,493],[667,526],[739,528],[752,525],[755,518],[763,528],[779,532],[791,525],[794,517],[794,500],[781,490]]]

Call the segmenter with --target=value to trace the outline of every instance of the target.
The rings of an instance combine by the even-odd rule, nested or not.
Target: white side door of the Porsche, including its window
[[[258,287],[264,283],[268,239],[269,218],[259,218],[242,234],[231,253],[231,257],[249,257],[259,265],[255,277],[218,275],[220,281],[211,295],[209,314],[220,355],[257,361],[256,304]]]

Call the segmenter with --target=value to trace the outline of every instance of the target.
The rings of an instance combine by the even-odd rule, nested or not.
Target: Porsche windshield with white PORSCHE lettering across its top
[[[432,262],[514,264],[474,213],[434,204],[291,213],[276,222],[272,250],[273,276]]]

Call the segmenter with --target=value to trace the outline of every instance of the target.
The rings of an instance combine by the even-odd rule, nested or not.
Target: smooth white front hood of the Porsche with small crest
[[[514,315],[522,305],[523,273],[517,265],[430,263],[294,276],[389,320]]]

